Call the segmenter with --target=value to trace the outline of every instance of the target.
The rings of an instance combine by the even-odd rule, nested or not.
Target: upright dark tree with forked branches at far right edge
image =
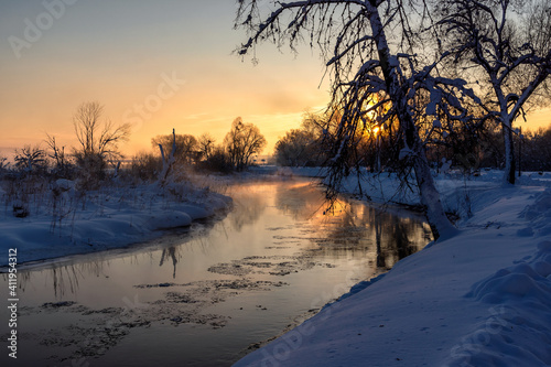
[[[486,120],[501,125],[505,176],[515,183],[514,122],[551,99],[551,3],[549,0],[442,0],[434,3],[437,30],[477,84]]]

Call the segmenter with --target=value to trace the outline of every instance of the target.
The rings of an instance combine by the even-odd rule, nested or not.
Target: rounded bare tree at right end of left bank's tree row
[[[234,168],[237,171],[242,171],[249,165],[252,154],[262,152],[266,139],[258,127],[252,123],[244,123],[238,117],[231,123],[231,130],[224,138],[224,145]]]

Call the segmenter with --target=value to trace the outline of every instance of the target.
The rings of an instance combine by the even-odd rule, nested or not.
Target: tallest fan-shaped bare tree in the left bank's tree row
[[[100,171],[107,161],[122,156],[118,144],[128,140],[130,125],[115,126],[110,120],[102,120],[104,106],[97,101],[82,104],[73,116],[73,127],[79,147],[74,155],[82,166],[94,166]]]

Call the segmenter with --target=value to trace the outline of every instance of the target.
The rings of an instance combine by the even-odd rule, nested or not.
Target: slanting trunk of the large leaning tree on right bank
[[[426,220],[431,226],[434,239],[442,236],[452,236],[456,229],[446,217],[440,193],[434,185],[429,161],[421,143],[415,123],[408,111],[408,101],[404,90],[401,88],[397,67],[400,67],[397,57],[390,56],[390,50],[387,36],[382,26],[379,11],[376,7],[376,0],[366,0],[366,7],[369,11],[369,23],[371,32],[377,43],[379,63],[385,76],[387,93],[395,106],[400,122],[400,129],[403,132],[406,148],[414,152],[413,169],[421,195],[421,204],[426,208]]]

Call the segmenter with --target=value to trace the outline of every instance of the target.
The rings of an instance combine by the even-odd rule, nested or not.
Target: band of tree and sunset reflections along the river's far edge
[[[399,259],[402,259],[430,241],[430,228],[422,218],[408,214],[399,216],[397,213],[382,211],[366,203],[354,199],[339,199],[328,209],[323,192],[314,184],[307,182],[285,184],[264,184],[263,191],[258,185],[241,185],[234,187],[235,211],[220,223],[213,225],[196,225],[195,231],[185,231],[186,237],[176,240],[176,244],[153,247],[137,253],[117,253],[123,256],[129,266],[147,267],[154,271],[151,263],[158,258],[158,267],[171,268],[171,278],[177,278],[179,267],[185,266],[182,252],[188,252],[193,247],[193,256],[202,249],[203,257],[209,257],[206,249],[213,245],[209,236],[212,231],[223,233],[227,240],[235,241],[236,234],[244,227],[255,227],[262,218],[262,214],[270,206],[266,195],[266,185],[273,190],[273,206],[284,216],[290,216],[293,226],[299,230],[299,236],[285,236],[273,231],[272,237],[277,245],[285,245],[307,240],[314,245],[316,257],[332,259],[334,257],[355,258],[366,256],[375,266],[383,271],[390,269]],[[198,228],[197,228],[198,227]],[[253,228],[264,230],[266,228]],[[269,228],[282,229],[282,228]],[[239,238],[247,241],[247,238]],[[172,239],[175,241],[175,239]],[[279,246],[283,248],[284,246]],[[39,276],[43,287],[52,289],[56,299],[63,299],[67,293],[75,294],[85,278],[109,278],[106,268],[109,268],[110,255],[89,256],[86,261],[52,263],[40,271],[22,271],[20,289],[25,291],[33,276]],[[184,272],[185,273],[185,272]],[[7,281],[7,274],[2,274]],[[34,288],[36,284],[34,284]]]

